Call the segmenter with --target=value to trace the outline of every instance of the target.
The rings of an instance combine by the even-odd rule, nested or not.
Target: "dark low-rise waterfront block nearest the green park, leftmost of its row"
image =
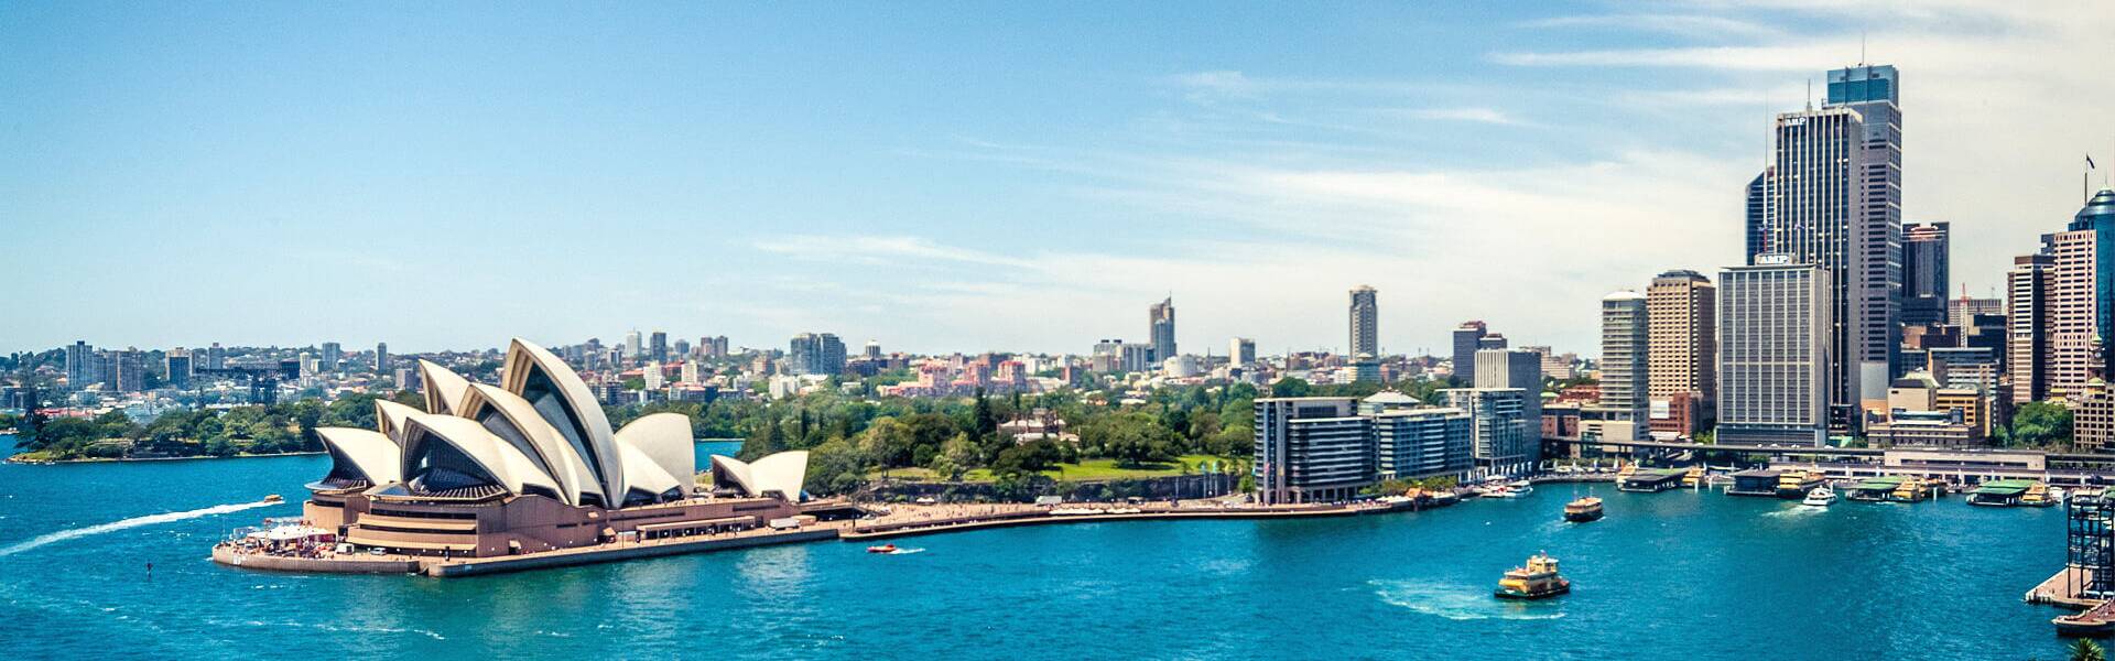
[[[1256,400],[1256,498],[1263,504],[1332,502],[1377,479],[1373,419],[1349,396]]]

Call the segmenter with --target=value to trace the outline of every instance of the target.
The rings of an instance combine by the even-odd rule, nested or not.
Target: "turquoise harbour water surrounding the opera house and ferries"
[[[2020,604],[2062,561],[2062,513],[1961,500],[1810,511],[1550,485],[1415,515],[1015,528],[901,540],[914,555],[819,542],[459,580],[205,559],[228,528],[298,513],[228,506],[298,500],[326,464],[0,466],[0,653],[2062,659],[2056,610]],[[1557,521],[1576,492],[1610,517]],[[1571,595],[1489,597],[1542,549]]]

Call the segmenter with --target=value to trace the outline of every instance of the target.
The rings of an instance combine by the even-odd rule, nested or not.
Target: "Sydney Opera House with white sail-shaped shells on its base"
[[[804,508],[806,451],[753,464],[713,458],[698,487],[689,417],[609,428],[588,383],[527,341],[501,383],[421,362],[425,411],[376,400],[376,430],[319,428],[330,475],[309,485],[307,523],[353,549],[497,557],[738,532]]]

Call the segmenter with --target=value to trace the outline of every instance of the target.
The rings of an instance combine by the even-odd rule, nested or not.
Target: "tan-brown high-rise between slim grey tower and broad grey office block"
[[[1652,430],[1690,436],[1711,428],[1717,407],[1717,288],[1696,271],[1660,273],[1645,288],[1645,326]]]

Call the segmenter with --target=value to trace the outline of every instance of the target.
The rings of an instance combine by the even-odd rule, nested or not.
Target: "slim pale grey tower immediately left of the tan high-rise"
[[[1582,411],[1597,419],[1599,439],[1641,441],[1652,428],[1652,320],[1645,294],[1601,297],[1601,403]]]

